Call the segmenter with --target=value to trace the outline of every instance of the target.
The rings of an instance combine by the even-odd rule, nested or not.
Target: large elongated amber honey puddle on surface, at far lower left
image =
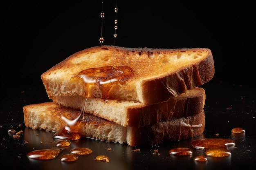
[[[58,154],[64,150],[64,148],[51,148],[51,149],[42,149],[42,150],[33,150],[27,154],[28,158],[31,159],[54,159]]]

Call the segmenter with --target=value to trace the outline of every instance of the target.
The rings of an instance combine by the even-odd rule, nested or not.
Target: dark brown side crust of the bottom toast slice
[[[169,119],[152,126],[128,128],[127,143],[130,146],[155,146],[171,141],[180,141],[202,135],[204,132],[204,110],[198,115]]]

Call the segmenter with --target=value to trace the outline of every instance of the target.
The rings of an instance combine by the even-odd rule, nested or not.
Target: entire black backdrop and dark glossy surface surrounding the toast
[[[115,1],[104,4],[103,44],[113,45]],[[233,139],[236,146],[229,147],[231,156],[207,157],[207,162],[193,161],[204,154],[202,150],[193,149],[192,157],[168,153],[175,147],[189,147],[193,139],[140,148],[140,152],[127,145],[80,139],[56,159],[28,159],[28,152],[52,148],[55,143],[53,132],[25,128],[22,107],[49,101],[40,79],[43,72],[77,51],[100,45],[101,1],[13,0],[1,7],[0,166],[9,170],[254,169],[254,5],[245,1],[117,0],[117,46],[211,49],[216,74],[202,86],[207,95],[205,131],[195,139]],[[245,134],[232,135],[236,127],[244,128]],[[7,132],[10,128],[23,130],[19,139]],[[60,157],[75,147],[87,147],[93,153],[61,162]],[[110,162],[94,161],[98,155],[108,156]]]

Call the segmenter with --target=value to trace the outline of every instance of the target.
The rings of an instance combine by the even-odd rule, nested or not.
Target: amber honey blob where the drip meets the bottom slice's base
[[[76,132],[70,132],[68,130],[64,128],[58,130],[54,135],[53,135],[54,139],[67,139],[70,141],[74,141],[74,140],[78,140],[81,138],[81,135],[79,135],[79,133]]]

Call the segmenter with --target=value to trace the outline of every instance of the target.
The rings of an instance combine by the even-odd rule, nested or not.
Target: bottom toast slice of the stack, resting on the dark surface
[[[30,104],[23,107],[25,126],[32,129],[57,131],[65,126],[61,119],[70,120],[81,114],[80,110],[60,106],[54,102]],[[80,117],[81,118],[81,117]],[[196,115],[159,121],[144,127],[124,127],[112,121],[85,114],[70,126],[72,132],[82,137],[117,142],[130,146],[155,146],[163,142],[178,141],[202,135],[204,131],[204,110]]]

